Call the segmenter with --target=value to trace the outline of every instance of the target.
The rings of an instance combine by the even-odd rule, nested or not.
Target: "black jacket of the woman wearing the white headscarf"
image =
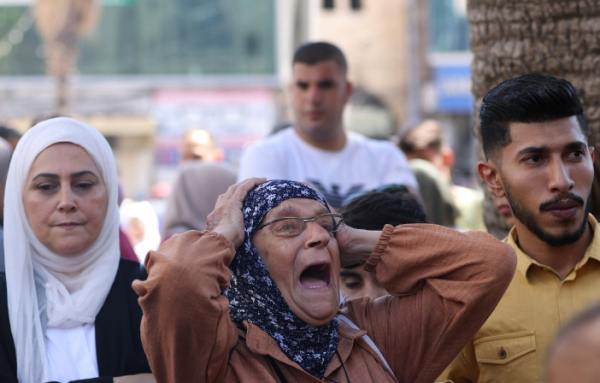
[[[142,309],[131,283],[145,279],[137,262],[121,259],[117,275],[96,316],[96,355],[100,378],[77,382],[112,382],[112,377],[149,373],[142,348]],[[0,382],[17,382],[17,357],[8,319],[6,277],[0,273]]]

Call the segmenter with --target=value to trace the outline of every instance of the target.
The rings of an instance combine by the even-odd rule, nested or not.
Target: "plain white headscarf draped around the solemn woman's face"
[[[70,142],[84,148],[108,192],[100,235],[73,258],[52,253],[35,237],[23,207],[23,191],[35,158],[48,146]],[[119,265],[117,169],[108,142],[91,126],[54,118],[30,129],[19,141],[8,170],[4,196],[4,249],[8,313],[17,352],[17,378],[47,381],[46,327],[94,323]],[[68,276],[65,273],[77,273]]]

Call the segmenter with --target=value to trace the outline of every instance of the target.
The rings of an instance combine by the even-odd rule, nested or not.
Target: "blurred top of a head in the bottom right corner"
[[[600,377],[600,304],[577,315],[548,351],[545,383],[597,383]]]

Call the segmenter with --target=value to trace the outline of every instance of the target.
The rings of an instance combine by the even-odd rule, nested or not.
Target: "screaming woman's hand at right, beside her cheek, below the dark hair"
[[[344,224],[335,235],[342,267],[365,263],[375,250],[380,236],[380,231],[354,229]]]

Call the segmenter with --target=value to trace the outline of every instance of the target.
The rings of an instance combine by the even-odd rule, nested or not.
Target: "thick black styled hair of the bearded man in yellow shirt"
[[[492,158],[511,142],[511,122],[534,123],[576,116],[586,139],[587,120],[577,91],[567,80],[527,74],[501,82],[483,97],[479,124],[483,152]]]

